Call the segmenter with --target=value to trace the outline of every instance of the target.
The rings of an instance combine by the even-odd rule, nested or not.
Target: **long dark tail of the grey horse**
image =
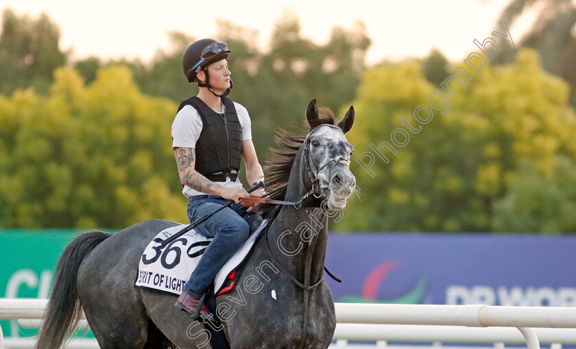
[[[75,237],[58,260],[52,294],[48,300],[38,341],[34,349],[59,349],[71,335],[82,312],[76,287],[78,269],[82,259],[103,242],[109,233],[91,231]]]

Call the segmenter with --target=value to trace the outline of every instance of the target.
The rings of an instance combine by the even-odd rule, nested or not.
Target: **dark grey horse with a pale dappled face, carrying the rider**
[[[174,307],[176,295],[134,287],[139,260],[154,236],[177,225],[147,220],[109,234],[78,235],[65,248],[36,349],[59,349],[84,310],[101,348],[211,348],[207,326],[224,331],[231,349],[328,348],[336,320],[324,281],[331,212],[346,207],[356,181],[344,133],[354,109],[335,125],[332,112],[308,105],[307,135],[280,130],[280,150],[267,162],[265,204],[275,219],[261,235],[231,292],[217,296],[221,322],[193,320]]]

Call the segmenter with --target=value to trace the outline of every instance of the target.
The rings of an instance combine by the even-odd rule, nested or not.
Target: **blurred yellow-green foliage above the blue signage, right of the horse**
[[[523,231],[528,227],[510,225],[495,211],[517,209],[517,201],[509,197],[518,191],[514,181],[523,177],[526,161],[534,164],[537,172],[531,176],[543,185],[556,183],[550,178],[561,159],[574,163],[576,144],[571,134],[576,131],[576,117],[566,106],[568,86],[545,73],[532,51],[518,53],[514,64],[487,66],[482,73],[483,79],[475,77],[468,86],[454,85],[450,111],[442,116],[434,110],[426,124],[416,122],[413,111],[429,103],[435,87],[424,79],[418,64],[379,66],[365,73],[354,101],[355,127],[348,136],[356,149],[352,170],[361,194],[350,202],[346,220],[337,229]],[[400,116],[412,117],[414,132]],[[392,144],[392,131],[400,127],[407,131],[409,142],[395,146],[396,155],[383,146],[386,164],[369,145]],[[418,127],[422,129],[416,132]],[[400,133],[397,140],[404,140]],[[368,151],[375,159],[374,177],[357,161]],[[573,196],[562,197],[559,205],[571,211]],[[566,213],[554,217],[549,219],[562,220]],[[571,220],[552,224],[538,214],[533,219],[537,223],[529,226],[530,231],[576,230]]]

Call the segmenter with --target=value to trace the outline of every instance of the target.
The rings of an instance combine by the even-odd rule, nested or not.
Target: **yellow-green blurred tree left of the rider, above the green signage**
[[[125,67],[100,69],[88,86],[60,68],[48,96],[0,96],[0,226],[185,222],[170,146],[175,108],[143,95]]]

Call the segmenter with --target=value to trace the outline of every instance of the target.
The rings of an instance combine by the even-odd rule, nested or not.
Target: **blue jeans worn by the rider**
[[[200,195],[189,198],[188,218],[190,222],[211,214],[229,203],[216,195]],[[196,298],[200,298],[214,280],[218,270],[236,253],[250,235],[250,227],[244,220],[248,207],[232,203],[205,222],[195,227],[206,237],[214,237],[208,245],[200,263],[184,284],[184,289]]]

